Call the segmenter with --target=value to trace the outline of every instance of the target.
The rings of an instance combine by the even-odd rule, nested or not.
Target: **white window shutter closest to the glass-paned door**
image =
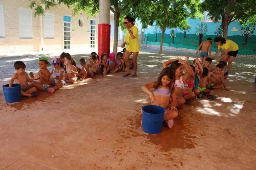
[[[44,38],[54,38],[54,15],[53,13],[44,12]]]

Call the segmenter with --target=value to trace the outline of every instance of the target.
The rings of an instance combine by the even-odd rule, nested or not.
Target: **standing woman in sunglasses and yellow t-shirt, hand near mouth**
[[[140,42],[138,35],[138,28],[134,25],[135,19],[132,17],[124,18],[124,25],[126,27],[125,39],[122,44],[122,48],[126,45],[126,51],[124,54],[124,61],[126,66],[129,66],[129,57],[132,54],[132,62],[134,66],[134,73],[131,73],[130,67],[127,67],[127,72],[123,75],[124,77],[131,75],[132,77],[137,77],[137,57],[140,52]]]

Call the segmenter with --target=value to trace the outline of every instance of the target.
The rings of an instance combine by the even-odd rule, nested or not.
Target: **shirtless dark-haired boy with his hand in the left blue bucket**
[[[28,82],[39,78],[39,75],[36,75],[34,78],[30,79],[28,74],[25,72],[26,65],[22,61],[16,61],[14,63],[14,68],[16,69],[17,73],[12,76],[12,79],[9,82],[9,87],[12,87],[13,81],[17,84],[21,84],[21,96],[28,96],[28,97],[36,97],[36,88],[29,86]]]

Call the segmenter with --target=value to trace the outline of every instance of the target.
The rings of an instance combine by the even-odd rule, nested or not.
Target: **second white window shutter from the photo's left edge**
[[[19,8],[20,38],[33,38],[32,34],[32,11]]]

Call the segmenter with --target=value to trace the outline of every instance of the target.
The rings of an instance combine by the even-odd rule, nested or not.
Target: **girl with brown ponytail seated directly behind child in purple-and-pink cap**
[[[67,68],[67,76],[68,79],[64,80],[66,83],[74,83],[76,82],[76,75],[78,74],[76,69],[76,60],[74,60],[71,56],[65,57],[65,64]]]

